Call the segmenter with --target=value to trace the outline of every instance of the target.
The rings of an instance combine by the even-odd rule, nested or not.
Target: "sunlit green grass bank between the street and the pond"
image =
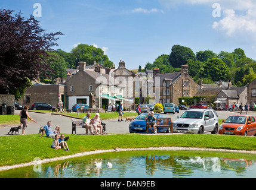
[[[255,137],[231,135],[69,135],[70,151],[51,148],[53,139],[35,135],[0,137],[0,166],[32,162],[33,159],[50,159],[85,151],[119,148],[197,147],[227,150],[256,150]],[[256,156],[255,156],[256,157]]]

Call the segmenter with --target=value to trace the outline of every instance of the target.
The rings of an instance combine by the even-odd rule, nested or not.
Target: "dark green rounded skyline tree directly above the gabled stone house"
[[[180,68],[181,65],[187,64],[189,59],[192,61],[196,59],[195,53],[189,47],[180,45],[172,46],[169,62],[174,68]]]

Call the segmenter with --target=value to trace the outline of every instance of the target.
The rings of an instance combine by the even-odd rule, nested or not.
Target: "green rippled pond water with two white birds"
[[[256,178],[255,161],[254,154],[215,151],[121,151],[7,170],[0,178]]]

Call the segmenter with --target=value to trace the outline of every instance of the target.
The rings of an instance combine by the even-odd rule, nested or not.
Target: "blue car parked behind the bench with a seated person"
[[[146,133],[146,116],[149,113],[141,113],[138,115],[130,124],[129,124],[129,132],[136,133]],[[165,115],[154,113],[156,118],[167,118]],[[149,129],[149,133],[151,129]],[[168,127],[159,127],[158,132],[170,132]]]

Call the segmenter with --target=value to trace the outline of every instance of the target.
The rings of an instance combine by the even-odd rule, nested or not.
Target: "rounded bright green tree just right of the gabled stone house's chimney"
[[[229,74],[227,65],[218,58],[209,59],[204,65],[205,76],[212,81],[226,80]]]

